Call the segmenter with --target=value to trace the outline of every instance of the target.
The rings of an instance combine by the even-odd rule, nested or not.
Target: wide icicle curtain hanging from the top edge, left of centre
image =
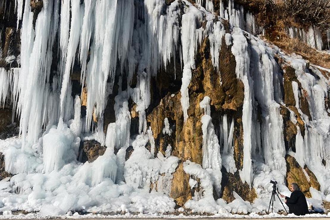
[[[95,3],[94,44],[90,49],[87,64],[87,108],[86,126],[91,123],[92,113],[103,117],[106,95],[112,91],[107,81],[114,82],[117,59],[125,59],[133,33],[134,4],[132,1],[103,0]],[[126,17],[124,17],[124,15]],[[87,21],[86,21],[87,22]],[[88,44],[88,33],[84,42]],[[121,37],[122,36],[122,37]],[[86,49],[84,46],[82,49]],[[86,51],[80,51],[80,53]],[[84,55],[82,56],[84,62]],[[96,106],[95,106],[96,105]]]

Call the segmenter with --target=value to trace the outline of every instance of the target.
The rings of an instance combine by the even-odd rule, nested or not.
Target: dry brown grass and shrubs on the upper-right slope
[[[299,39],[291,39],[286,27],[306,29],[314,25],[330,28],[328,0],[235,0],[255,15],[258,26],[265,29],[265,38],[287,53],[296,53],[312,63],[330,68],[330,55],[319,52]]]

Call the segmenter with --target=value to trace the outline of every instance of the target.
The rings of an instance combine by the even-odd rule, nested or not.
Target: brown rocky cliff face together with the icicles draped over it
[[[18,20],[1,11],[0,133],[13,110],[21,134],[0,142],[2,173],[28,182],[10,187],[32,195],[44,175],[52,205],[57,187],[76,198],[58,213],[116,210],[109,198],[122,195],[136,210],[141,190],[172,198],[166,211],[214,212],[200,205],[211,199],[216,212],[240,212],[228,207],[242,200],[262,212],[270,179],[329,197],[330,70],[254,36],[254,17],[233,1],[68,4],[25,1]],[[49,187],[51,172],[96,204]]]

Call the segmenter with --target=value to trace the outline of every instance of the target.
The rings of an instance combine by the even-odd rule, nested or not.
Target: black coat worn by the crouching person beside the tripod
[[[306,197],[301,191],[294,191],[291,193],[290,198],[285,197],[287,206],[289,207],[289,213],[295,215],[305,215],[308,213],[308,207]]]

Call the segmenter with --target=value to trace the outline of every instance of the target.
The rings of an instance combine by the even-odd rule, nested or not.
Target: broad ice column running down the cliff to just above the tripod
[[[269,54],[263,42],[256,38],[251,39],[250,60],[254,79],[254,95],[263,116],[261,138],[265,163],[271,169],[279,170],[285,175],[283,120],[280,105],[274,100],[274,79],[280,73],[277,72],[277,64],[273,56]],[[258,134],[255,132],[254,135]]]

